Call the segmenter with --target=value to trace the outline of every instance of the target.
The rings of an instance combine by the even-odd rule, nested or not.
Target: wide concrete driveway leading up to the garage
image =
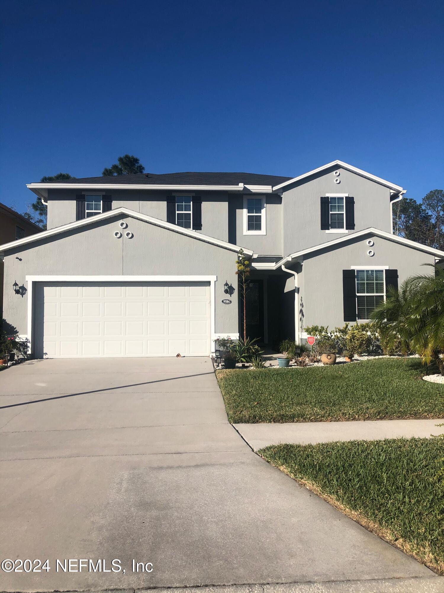
[[[2,590],[435,578],[253,453],[209,359],[30,361],[0,406],[0,556],[50,566]]]

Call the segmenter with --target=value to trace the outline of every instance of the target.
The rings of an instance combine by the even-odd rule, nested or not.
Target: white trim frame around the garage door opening
[[[34,282],[210,282],[210,340],[211,352],[215,342],[215,283],[217,276],[25,276],[28,285],[29,351],[34,353],[33,285]]]

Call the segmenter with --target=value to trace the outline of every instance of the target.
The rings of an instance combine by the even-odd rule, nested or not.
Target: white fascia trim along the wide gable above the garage
[[[204,241],[204,243],[211,243],[213,245],[217,245],[218,247],[224,247],[225,249],[229,249],[230,251],[236,251],[239,253],[240,247],[238,245],[233,245],[232,243],[226,243],[226,241],[221,241],[220,239],[216,239],[214,237],[208,237],[208,235],[204,235],[201,232],[195,232],[191,229],[178,227],[178,225],[171,224],[170,222],[161,221],[159,218],[154,218],[153,216],[148,216],[147,214],[142,214],[141,212],[135,212],[134,210],[130,210],[128,208],[116,208],[115,210],[110,210],[108,212],[102,212],[101,214],[97,214],[95,216],[89,216],[89,218],[83,218],[80,221],[69,222],[69,224],[63,225],[62,227],[56,227],[49,229],[49,231],[38,232],[35,235],[30,235],[29,237],[24,237],[23,239],[18,239],[17,241],[11,241],[10,243],[5,243],[4,245],[0,245],[0,252],[7,251],[8,249],[12,249],[15,247],[20,247],[22,245],[27,245],[28,243],[33,243],[34,241],[40,241],[46,237],[53,237],[53,235],[58,235],[62,232],[69,231],[70,229],[75,229],[79,227],[83,227],[85,225],[93,224],[97,221],[102,221],[107,218],[112,218],[112,216],[116,216],[119,214],[124,214],[127,216],[132,216],[133,218],[139,218],[139,220],[144,222],[149,222],[157,227],[162,227],[169,229],[170,231],[179,232],[182,235],[188,235],[188,237],[192,237],[197,239],[198,241]],[[247,248],[244,248],[244,253],[247,255],[252,255],[253,251]]]

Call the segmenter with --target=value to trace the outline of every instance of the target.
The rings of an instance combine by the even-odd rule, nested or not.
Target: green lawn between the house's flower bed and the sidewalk
[[[301,369],[216,371],[230,422],[444,417],[444,385],[418,359]]]

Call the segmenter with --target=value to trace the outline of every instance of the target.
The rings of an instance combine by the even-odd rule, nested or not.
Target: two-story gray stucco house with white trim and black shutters
[[[402,187],[341,161],[299,177],[171,173],[28,185],[48,229],[0,246],[5,317],[35,356],[207,356],[242,327],[274,345],[366,320],[444,252],[392,234]],[[24,297],[12,283],[27,287]],[[234,291],[234,292],[233,292]]]

